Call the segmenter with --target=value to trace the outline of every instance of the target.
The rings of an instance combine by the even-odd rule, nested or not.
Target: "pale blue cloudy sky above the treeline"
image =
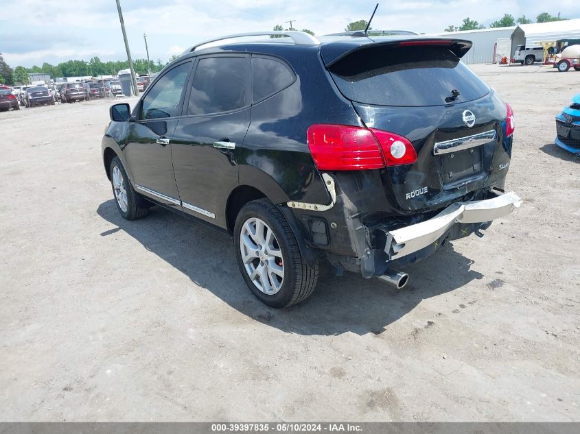
[[[121,0],[132,57],[165,63],[216,36],[271,30],[277,24],[323,35],[369,19],[372,27],[442,32],[469,16],[486,26],[504,13],[535,19],[540,12],[580,18],[579,0]],[[550,10],[548,8],[554,8]],[[12,68],[71,59],[126,60],[115,0],[0,0],[0,53]]]

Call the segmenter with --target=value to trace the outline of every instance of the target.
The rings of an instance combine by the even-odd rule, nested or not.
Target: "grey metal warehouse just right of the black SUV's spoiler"
[[[449,36],[452,38],[467,39],[473,43],[472,49],[467,51],[463,62],[494,63],[496,54],[509,58],[509,38],[516,27],[496,27],[494,29],[465,30],[463,32],[443,32],[432,36]]]

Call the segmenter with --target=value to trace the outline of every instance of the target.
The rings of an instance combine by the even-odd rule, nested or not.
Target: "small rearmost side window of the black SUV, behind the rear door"
[[[252,58],[252,100],[261,101],[281,91],[294,81],[286,64],[272,58]]]

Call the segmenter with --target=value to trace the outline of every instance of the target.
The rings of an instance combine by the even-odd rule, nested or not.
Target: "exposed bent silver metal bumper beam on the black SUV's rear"
[[[513,191],[487,200],[455,202],[432,219],[386,232],[384,250],[389,261],[402,258],[435,243],[454,224],[489,222],[511,213],[521,204],[522,200]]]

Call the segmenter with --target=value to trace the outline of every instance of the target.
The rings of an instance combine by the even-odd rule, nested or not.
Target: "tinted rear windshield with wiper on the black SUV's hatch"
[[[489,88],[444,47],[359,49],[330,67],[352,101],[378,106],[442,106],[483,97]],[[459,95],[453,97],[456,92]]]

